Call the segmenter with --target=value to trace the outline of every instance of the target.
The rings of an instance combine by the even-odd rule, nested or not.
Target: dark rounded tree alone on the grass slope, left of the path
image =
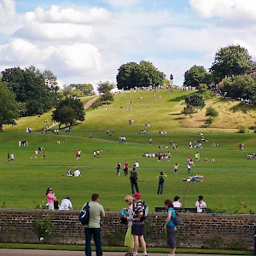
[[[76,120],[84,121],[84,105],[79,99],[66,98],[52,113],[52,119],[65,125],[73,125]]]

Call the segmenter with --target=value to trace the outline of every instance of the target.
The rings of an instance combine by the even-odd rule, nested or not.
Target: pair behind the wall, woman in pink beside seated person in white
[[[72,202],[70,201],[70,197],[67,196],[66,198],[62,199],[61,205],[59,206],[59,201],[57,201],[55,193],[52,192],[52,189],[49,187],[46,189],[46,199],[49,211],[53,210],[61,210],[61,211],[67,211],[67,210],[73,210]]]

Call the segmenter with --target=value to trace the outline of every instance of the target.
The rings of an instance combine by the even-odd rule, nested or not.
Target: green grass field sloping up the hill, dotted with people
[[[80,209],[92,193],[99,193],[105,208],[119,211],[125,207],[125,195],[131,195],[131,186],[123,172],[120,177],[116,176],[115,166],[118,161],[123,166],[128,160],[131,167],[138,160],[139,189],[143,200],[148,202],[149,211],[163,206],[163,201],[172,200],[175,195],[181,197],[185,207],[194,207],[198,195],[204,195],[207,207],[212,209],[234,209],[244,202],[247,213],[256,212],[256,160],[247,160],[248,153],[256,153],[256,135],[236,133],[228,124],[226,129],[184,127],[180,111],[184,106],[183,97],[189,93],[160,90],[119,94],[112,105],[86,110],[83,123],[73,126],[71,133],[61,129],[60,135],[39,132],[45,125],[44,119],[50,119],[50,113],[40,119],[20,119],[14,127],[4,126],[0,134],[0,207],[33,209],[45,200],[45,190],[52,187],[59,201],[70,196],[74,209]],[[129,119],[135,120],[134,125],[129,125]],[[150,121],[149,128],[144,127],[146,121]],[[32,133],[26,133],[26,127],[32,127]],[[140,134],[143,129],[148,133]],[[160,130],[164,134],[159,134]],[[200,150],[190,149],[189,141],[201,139],[200,132],[209,142],[202,143]],[[126,143],[119,143],[120,136],[126,137]],[[149,138],[153,139],[152,146]],[[176,150],[158,148],[159,145],[169,146],[170,139],[177,143]],[[20,140],[27,140],[28,147],[19,147]],[[56,144],[58,140],[61,145]],[[212,143],[219,146],[212,147]],[[244,143],[246,148],[239,150],[239,143]],[[35,159],[38,146],[45,148],[46,160],[42,154]],[[102,150],[100,158],[93,159],[93,151],[97,149]],[[82,151],[80,160],[75,158],[77,150]],[[159,151],[170,151],[171,160],[158,162],[157,158],[142,157],[143,153]],[[201,161],[195,162],[191,174],[206,178],[202,183],[188,186],[183,182],[183,178],[188,177],[185,163],[196,151],[200,152]],[[15,153],[14,163],[7,161],[8,152]],[[214,158],[216,162],[204,162],[205,157]],[[179,163],[177,176],[173,175],[175,162]],[[82,177],[66,177],[68,167],[72,171],[79,167]],[[163,195],[156,194],[158,181],[155,177],[160,171],[168,175]]]

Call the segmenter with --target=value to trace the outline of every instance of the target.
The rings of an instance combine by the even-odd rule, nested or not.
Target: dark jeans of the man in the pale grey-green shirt
[[[102,256],[102,238],[101,238],[101,229],[96,228],[85,228],[85,255],[91,256],[91,246],[90,239],[91,235],[93,236],[93,240],[96,246],[96,256]]]

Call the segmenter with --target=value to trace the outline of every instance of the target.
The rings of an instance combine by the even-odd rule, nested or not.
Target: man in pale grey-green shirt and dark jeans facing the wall
[[[101,217],[105,217],[102,205],[99,204],[100,196],[98,194],[91,195],[90,220],[89,224],[84,226],[85,233],[85,255],[91,256],[90,239],[93,236],[96,245],[96,256],[102,256],[102,238],[101,238]]]

